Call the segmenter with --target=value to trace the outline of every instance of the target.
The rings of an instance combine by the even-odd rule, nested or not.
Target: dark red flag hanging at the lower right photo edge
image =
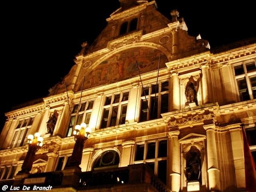
[[[245,185],[248,192],[256,192],[256,168],[253,155],[250,151],[249,144],[242,126],[244,138],[244,168],[245,168]]]

